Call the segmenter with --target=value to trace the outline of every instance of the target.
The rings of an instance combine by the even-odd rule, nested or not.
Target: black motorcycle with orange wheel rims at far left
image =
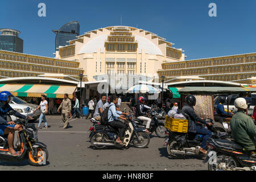
[[[28,113],[30,107],[27,107],[25,112]],[[14,111],[9,111],[10,115],[14,115]],[[43,166],[48,159],[48,151],[46,144],[38,142],[38,130],[34,124],[28,124],[26,119],[16,119],[15,125],[23,127],[19,131],[20,152],[19,156],[8,154],[9,144],[8,135],[0,136],[0,161],[1,162],[22,162],[28,160],[32,166]]]

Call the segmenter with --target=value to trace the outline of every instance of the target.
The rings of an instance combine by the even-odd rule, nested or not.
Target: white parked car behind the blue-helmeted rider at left
[[[38,107],[37,105],[29,104],[19,97],[13,97],[13,99],[10,101],[9,104],[11,107],[13,107],[14,110],[18,111],[20,114],[23,114],[23,115],[27,115],[24,110],[27,107],[30,107],[30,112],[28,113],[28,115],[34,118],[32,121],[36,121],[36,119],[40,117],[40,114],[41,114],[40,110],[36,110],[35,113],[33,114],[33,111],[36,109],[36,107]],[[15,121],[16,117],[15,115],[11,115],[10,118],[7,118],[7,119],[11,119],[11,121]]]

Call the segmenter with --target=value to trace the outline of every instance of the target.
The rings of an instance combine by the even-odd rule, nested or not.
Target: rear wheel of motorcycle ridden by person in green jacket
[[[216,165],[208,162],[209,171],[233,171],[234,168],[240,167],[240,163],[232,156],[217,154],[216,158]]]

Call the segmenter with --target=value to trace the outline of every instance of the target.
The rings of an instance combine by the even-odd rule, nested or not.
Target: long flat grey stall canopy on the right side
[[[219,86],[186,86],[177,92],[181,93],[211,93],[211,94],[228,94],[228,93],[245,93],[256,92],[256,88],[243,87],[219,87]]]

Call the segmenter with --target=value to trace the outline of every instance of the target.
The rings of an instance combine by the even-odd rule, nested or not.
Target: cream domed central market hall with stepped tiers
[[[157,75],[164,61],[183,61],[182,49],[158,35],[129,26],[99,28],[59,47],[56,59],[77,60],[87,77],[97,75]]]

